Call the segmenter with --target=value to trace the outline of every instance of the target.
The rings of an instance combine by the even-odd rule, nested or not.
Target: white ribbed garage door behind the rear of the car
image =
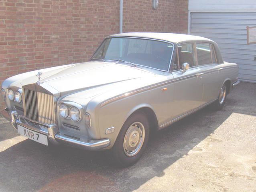
[[[223,60],[239,65],[238,78],[256,83],[256,44],[247,45],[246,26],[256,26],[256,13],[194,12],[190,34],[217,42]]]

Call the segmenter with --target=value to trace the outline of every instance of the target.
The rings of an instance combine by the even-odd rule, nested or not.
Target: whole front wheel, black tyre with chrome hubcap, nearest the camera
[[[122,126],[112,148],[115,165],[127,167],[136,163],[146,149],[148,138],[148,119],[141,112],[132,114]]]

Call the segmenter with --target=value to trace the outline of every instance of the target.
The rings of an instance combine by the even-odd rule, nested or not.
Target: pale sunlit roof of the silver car
[[[153,32],[131,32],[131,33],[120,33],[110,35],[108,37],[139,37],[139,38],[150,38],[165,40],[173,43],[186,42],[186,41],[211,41],[210,39],[194,36],[194,35],[185,35],[185,34],[176,34],[176,33],[153,33]]]

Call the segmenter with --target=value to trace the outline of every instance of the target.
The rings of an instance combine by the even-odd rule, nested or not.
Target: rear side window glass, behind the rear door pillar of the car
[[[213,57],[213,46],[211,44],[197,43],[196,50],[198,65],[211,64],[216,62],[215,54]]]

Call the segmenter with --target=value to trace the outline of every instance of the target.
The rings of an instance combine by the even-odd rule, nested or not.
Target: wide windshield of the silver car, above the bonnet
[[[141,38],[107,38],[92,56],[93,59],[126,61],[169,71],[173,44]]]

